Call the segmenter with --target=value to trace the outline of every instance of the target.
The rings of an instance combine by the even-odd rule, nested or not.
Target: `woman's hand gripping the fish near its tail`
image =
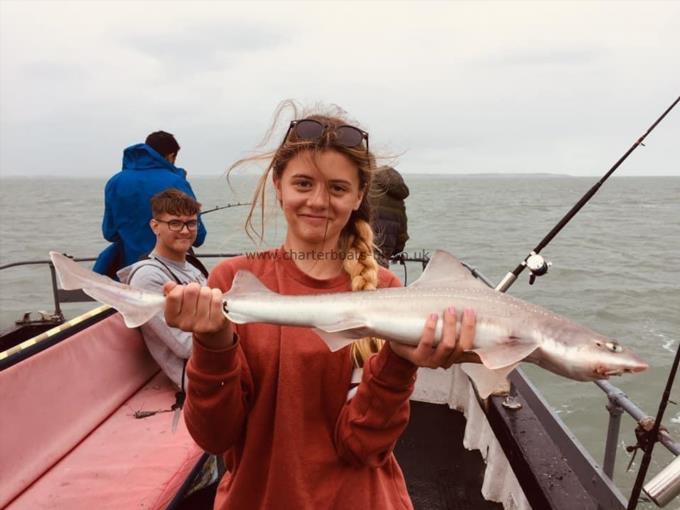
[[[163,286],[165,321],[168,326],[189,331],[205,347],[223,349],[233,344],[231,324],[222,313],[222,292],[198,283]]]

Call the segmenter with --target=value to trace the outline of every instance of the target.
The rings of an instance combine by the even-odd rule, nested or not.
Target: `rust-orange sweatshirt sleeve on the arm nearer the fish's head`
[[[401,287],[394,273],[380,269],[381,287]],[[382,465],[409,419],[409,398],[418,367],[397,356],[385,343],[364,364],[357,393],[345,403],[336,423],[335,444],[353,465]]]

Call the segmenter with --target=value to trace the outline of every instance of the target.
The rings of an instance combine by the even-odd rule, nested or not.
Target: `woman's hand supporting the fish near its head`
[[[447,308],[444,311],[442,340],[435,346],[434,335],[438,319],[439,316],[436,313],[428,317],[418,345],[390,342],[392,351],[419,367],[449,368],[454,363],[475,361],[476,356],[470,359],[471,356],[465,353],[474,346],[476,324],[474,310],[465,309],[458,333],[456,331],[456,310],[453,307]]]

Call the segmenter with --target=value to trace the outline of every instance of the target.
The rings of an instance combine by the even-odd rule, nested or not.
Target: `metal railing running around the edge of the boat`
[[[239,253],[201,253],[197,256],[201,259],[214,259],[214,258],[228,258],[240,255]],[[96,260],[94,257],[73,257],[75,262],[93,262]],[[392,265],[400,265],[403,268],[404,274],[404,284],[407,284],[408,271],[407,263],[419,263],[424,269],[429,261],[429,255],[427,252],[423,252],[421,255],[409,256],[406,253],[400,253],[393,256],[390,259]],[[87,296],[81,290],[64,290],[59,288],[57,283],[57,275],[54,269],[54,265],[50,260],[30,260],[21,261],[11,264],[5,264],[0,266],[0,271],[9,269],[12,267],[30,266],[30,265],[47,265],[50,270],[50,277],[52,283],[52,296],[54,300],[54,314],[50,318],[53,321],[64,320],[64,315],[61,309],[61,304],[63,303],[75,303],[75,302],[85,302],[93,301],[92,298]],[[491,281],[486,278],[479,270],[475,267],[464,264],[465,267],[476,277],[482,280],[486,285],[491,288],[495,286]],[[27,320],[29,314],[24,316],[24,320]],[[21,320],[17,321],[17,324],[21,324]],[[621,415],[623,412],[628,413],[636,422],[637,428],[640,431],[650,430],[651,425],[654,423],[654,418],[646,414],[640,407],[633,402],[625,392],[617,388],[608,381],[595,381],[595,385],[600,388],[607,396],[608,403],[606,409],[609,412],[609,422],[607,426],[607,438],[604,452],[604,460],[602,464],[602,470],[607,475],[610,480],[614,478],[614,466],[616,462],[616,452],[619,442],[620,426],[621,426]],[[680,443],[676,442],[667,430],[661,429],[659,431],[659,442],[666,447],[674,456],[680,456]],[[635,445],[632,448],[637,447]]]

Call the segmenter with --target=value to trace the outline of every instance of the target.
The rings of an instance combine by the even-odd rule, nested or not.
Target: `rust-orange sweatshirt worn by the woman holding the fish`
[[[317,280],[281,249],[222,261],[208,284],[229,290],[247,269],[281,294],[350,290],[342,274]],[[379,286],[397,287],[380,268]],[[238,342],[210,350],[194,339],[187,365],[187,427],[206,451],[225,454],[216,509],[410,509],[392,453],[409,417],[416,366],[386,344],[364,365],[347,401],[349,347],[330,352],[308,328],[235,325]]]

